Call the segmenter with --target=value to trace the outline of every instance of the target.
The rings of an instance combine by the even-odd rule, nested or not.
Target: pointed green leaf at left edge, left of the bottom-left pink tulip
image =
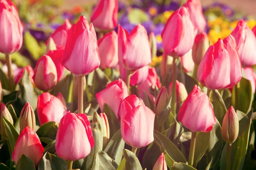
[[[15,127],[9,122],[5,117],[2,117],[3,124],[6,129],[6,133],[8,136],[8,140],[10,142],[10,153],[13,152],[17,139],[19,137],[19,133],[17,133]]]

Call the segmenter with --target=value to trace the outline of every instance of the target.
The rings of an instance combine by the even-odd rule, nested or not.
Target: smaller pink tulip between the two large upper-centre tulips
[[[115,31],[105,34],[99,41],[100,68],[113,68],[118,64],[117,34]]]

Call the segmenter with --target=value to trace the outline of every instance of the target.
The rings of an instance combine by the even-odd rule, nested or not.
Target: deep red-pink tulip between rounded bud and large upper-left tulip
[[[63,49],[49,51],[47,53],[47,56],[51,57],[52,61],[55,64],[56,71],[57,71],[57,81],[59,81],[61,79],[61,77],[63,76],[63,74],[65,72],[65,67],[61,63],[63,54],[64,54]]]

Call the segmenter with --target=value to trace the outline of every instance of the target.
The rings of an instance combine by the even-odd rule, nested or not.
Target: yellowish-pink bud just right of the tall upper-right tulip
[[[209,48],[209,40],[207,37],[206,32],[202,34],[198,34],[195,37],[195,42],[192,47],[192,58],[195,64],[199,65],[204,54],[206,53],[207,49]]]

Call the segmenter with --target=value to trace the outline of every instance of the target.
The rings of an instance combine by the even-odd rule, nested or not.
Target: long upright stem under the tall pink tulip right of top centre
[[[176,116],[176,58],[172,60],[172,114]]]

